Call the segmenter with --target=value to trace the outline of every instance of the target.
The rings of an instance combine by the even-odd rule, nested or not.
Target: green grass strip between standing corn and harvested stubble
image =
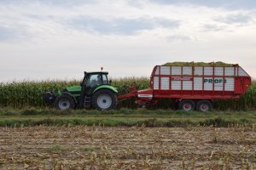
[[[1,127],[23,126],[143,126],[143,127],[228,127],[256,124],[255,111],[213,111],[202,113],[172,110],[56,111],[0,110]]]

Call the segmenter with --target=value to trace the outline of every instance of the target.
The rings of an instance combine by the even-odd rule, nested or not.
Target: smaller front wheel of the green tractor
[[[73,98],[67,94],[61,94],[55,99],[55,108],[57,110],[74,109],[75,102]]]

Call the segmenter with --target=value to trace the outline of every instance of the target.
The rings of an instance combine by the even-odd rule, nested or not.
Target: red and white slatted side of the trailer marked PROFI
[[[250,84],[251,77],[239,65],[156,65],[151,75],[151,88],[155,98],[239,98]]]

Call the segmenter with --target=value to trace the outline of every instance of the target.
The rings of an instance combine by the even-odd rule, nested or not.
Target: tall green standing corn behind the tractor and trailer
[[[113,87],[118,88],[119,94],[129,93],[125,86],[132,86],[137,82],[137,89],[149,87],[149,80],[146,77],[126,77],[113,79]],[[73,81],[41,81],[41,82],[6,82],[0,83],[0,108],[49,108],[44,102],[44,93],[47,91],[56,92],[61,88],[79,85],[77,80]],[[218,99],[214,101],[216,110],[226,111],[245,111],[256,109],[256,82],[248,89],[247,93],[241,99]],[[136,108],[135,99],[126,99],[119,102],[119,107]],[[154,108],[172,108],[175,109],[172,99],[161,99]],[[153,108],[153,109],[154,109]]]

